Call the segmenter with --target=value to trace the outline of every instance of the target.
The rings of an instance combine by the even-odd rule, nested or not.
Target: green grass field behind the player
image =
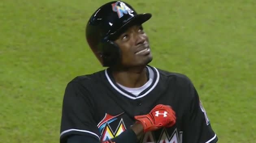
[[[105,0],[0,1],[0,143],[58,143],[63,93],[103,69],[85,40]],[[256,1],[127,0],[144,24],[150,65],[195,84],[219,143],[256,142]]]

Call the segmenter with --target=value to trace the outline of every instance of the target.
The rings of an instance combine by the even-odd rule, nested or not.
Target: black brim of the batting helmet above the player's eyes
[[[122,25],[117,31],[114,33],[111,33],[109,35],[109,39],[115,40],[120,36],[122,33],[124,33],[130,26],[132,25],[141,25],[144,22],[148,21],[152,17],[151,13],[142,13],[142,14],[137,14],[131,19],[129,19],[124,25]]]

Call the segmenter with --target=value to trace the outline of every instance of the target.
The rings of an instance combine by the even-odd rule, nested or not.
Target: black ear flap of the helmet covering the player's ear
[[[120,62],[121,50],[115,42],[108,40],[102,43],[102,47],[102,53],[100,55],[103,59],[104,67],[110,67]]]

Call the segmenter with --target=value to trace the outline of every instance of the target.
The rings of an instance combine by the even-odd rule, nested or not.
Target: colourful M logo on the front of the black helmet
[[[120,6],[118,4],[120,4]],[[117,12],[117,15],[119,18],[123,17],[124,14],[129,14],[132,17],[134,16],[132,14],[134,11],[132,11],[132,9],[130,9],[128,6],[126,6],[126,4],[124,2],[116,2],[116,3],[112,4],[112,10]]]

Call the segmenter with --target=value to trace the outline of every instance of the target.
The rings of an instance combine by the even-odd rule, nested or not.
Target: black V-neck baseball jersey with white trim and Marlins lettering
[[[134,116],[148,114],[157,104],[174,109],[176,124],[145,133],[140,143],[216,143],[218,138],[189,78],[148,67],[154,71],[153,82],[138,96],[120,88],[110,69],[69,82],[63,99],[61,143],[69,135],[89,135],[100,141],[117,137],[135,123]]]

